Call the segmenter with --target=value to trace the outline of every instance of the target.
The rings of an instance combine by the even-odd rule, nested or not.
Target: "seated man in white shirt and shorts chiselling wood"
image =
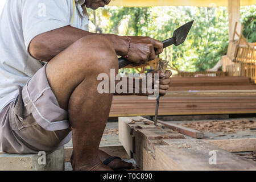
[[[110,77],[110,69],[117,75],[117,55],[142,64],[155,59],[163,44],[88,32],[86,7],[95,10],[109,2],[6,2],[0,17],[0,151],[51,152],[73,137],[74,170],[131,167],[98,150],[113,94],[97,91],[97,77]],[[170,76],[170,71],[159,74],[161,96]]]

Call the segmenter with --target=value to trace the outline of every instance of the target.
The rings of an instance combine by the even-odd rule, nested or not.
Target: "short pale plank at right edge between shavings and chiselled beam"
[[[256,151],[256,138],[204,140],[204,142],[229,152]]]

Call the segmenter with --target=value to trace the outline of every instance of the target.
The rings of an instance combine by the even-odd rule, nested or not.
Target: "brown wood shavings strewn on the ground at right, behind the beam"
[[[184,127],[202,131],[202,132],[224,132],[224,133],[236,133],[236,131],[250,130],[250,128],[256,127],[256,122],[249,119],[236,119],[225,121],[209,121],[209,122],[193,122],[184,123]]]

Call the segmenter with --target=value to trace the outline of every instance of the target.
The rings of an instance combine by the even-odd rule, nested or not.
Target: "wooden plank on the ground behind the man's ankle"
[[[126,153],[122,145],[100,146],[99,149],[111,156],[118,156],[121,159],[130,159],[130,156]],[[72,151],[73,151],[73,147],[65,148],[65,162],[70,162]]]

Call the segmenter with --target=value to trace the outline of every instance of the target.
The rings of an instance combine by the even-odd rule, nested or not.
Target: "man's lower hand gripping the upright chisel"
[[[165,96],[167,90],[170,87],[170,77],[172,76],[172,72],[167,70],[166,73],[158,71],[151,72],[152,73],[152,84],[154,84],[155,78],[154,73],[159,73],[159,80],[156,80],[156,83],[159,84],[159,88],[154,87],[154,89],[159,89],[159,96]]]

